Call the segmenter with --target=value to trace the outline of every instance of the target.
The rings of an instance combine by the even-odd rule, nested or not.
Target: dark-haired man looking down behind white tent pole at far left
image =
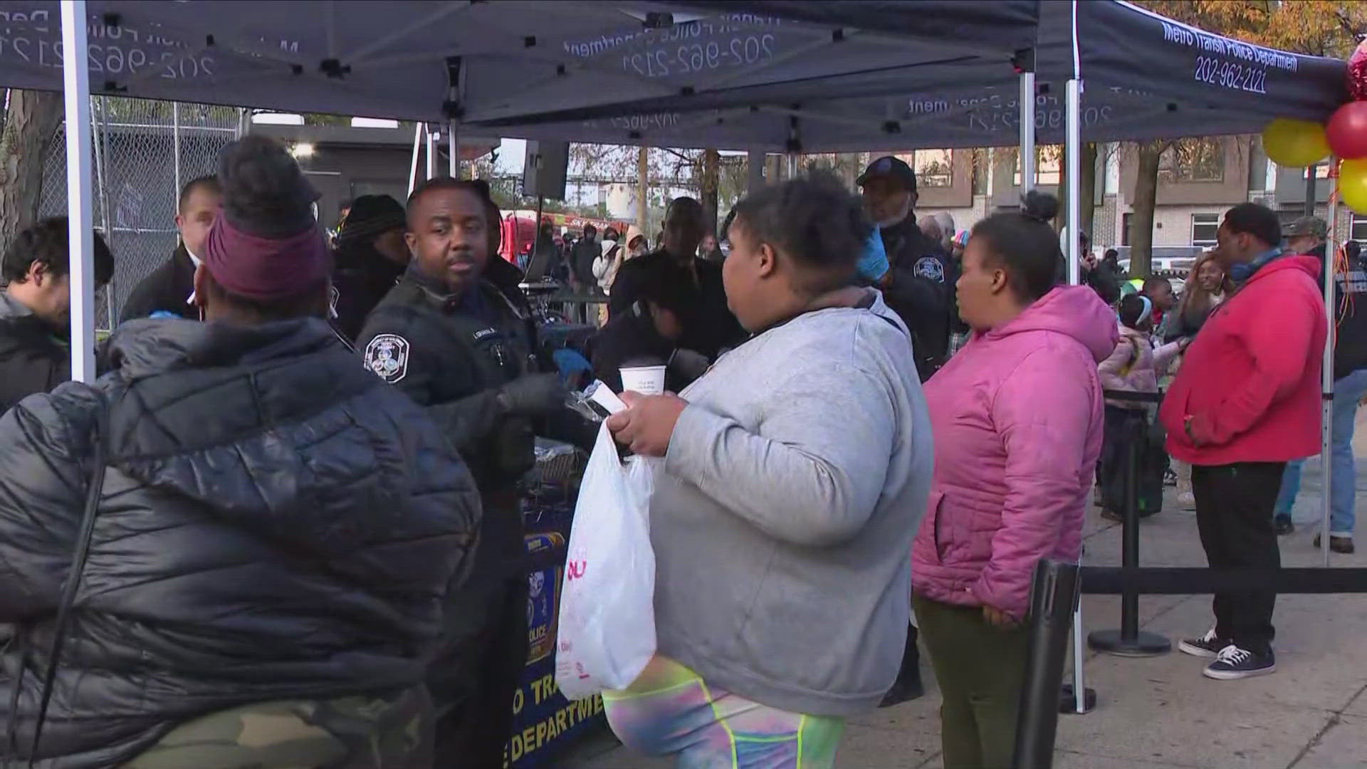
[[[67,218],[31,224],[4,253],[0,293],[0,412],[71,379],[71,283]],[[94,234],[94,278],[113,276],[113,256]]]

